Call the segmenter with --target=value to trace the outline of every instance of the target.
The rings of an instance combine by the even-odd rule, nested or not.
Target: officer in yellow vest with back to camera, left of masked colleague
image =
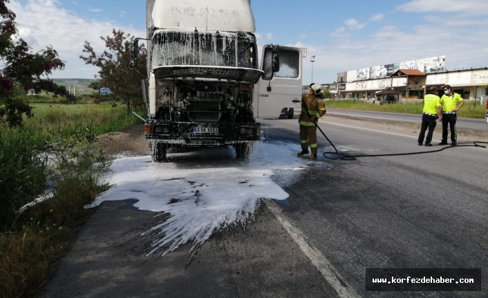
[[[440,97],[437,95],[437,87],[432,86],[429,94],[424,97],[424,113],[422,114],[422,127],[420,128],[420,135],[418,137],[418,145],[422,146],[424,142],[425,131],[429,128],[427,138],[425,139],[426,146],[432,146],[432,134],[437,124],[435,120],[439,118],[442,121],[442,109],[440,105]]]

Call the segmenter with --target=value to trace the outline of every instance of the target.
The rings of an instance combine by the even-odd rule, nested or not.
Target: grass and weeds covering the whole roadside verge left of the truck
[[[111,156],[91,140],[141,124],[125,106],[33,105],[35,117],[23,128],[0,124],[2,298],[32,297],[32,290],[46,283],[50,263],[73,234],[69,231],[91,214],[84,205],[109,187],[100,178],[109,171]],[[17,212],[45,189],[53,198]]]

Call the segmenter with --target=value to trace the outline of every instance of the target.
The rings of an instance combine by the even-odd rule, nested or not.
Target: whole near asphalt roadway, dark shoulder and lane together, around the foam
[[[296,119],[262,123],[263,143],[299,151]],[[418,147],[411,128],[335,117],[320,125],[348,153],[438,148]],[[323,137],[319,147],[331,149]],[[222,150],[222,158],[196,160],[234,162],[232,151]],[[288,180],[290,169],[274,174],[287,201],[266,203],[245,230],[209,239],[187,268],[181,261],[188,246],[165,257],[144,254],[148,244],[140,234],[160,217],[131,201],[103,203],[41,297],[488,296],[488,150],[356,161],[320,156],[305,164],[295,180]],[[366,268],[482,268],[482,291],[366,292]]]

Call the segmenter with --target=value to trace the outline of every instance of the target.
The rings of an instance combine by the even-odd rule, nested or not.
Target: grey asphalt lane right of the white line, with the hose
[[[294,122],[272,122],[270,138],[290,138],[297,130]],[[370,127],[339,118],[325,118],[320,125],[339,150],[350,154],[440,148],[419,147],[413,129]],[[469,144],[467,139],[459,143]],[[434,140],[440,141],[439,129]],[[332,151],[324,138],[319,145]],[[334,169],[312,171],[285,189],[290,205],[283,209],[364,297],[487,297],[486,283],[483,293],[364,291],[365,268],[483,268],[486,282],[487,157],[486,149],[467,147],[337,160]]]

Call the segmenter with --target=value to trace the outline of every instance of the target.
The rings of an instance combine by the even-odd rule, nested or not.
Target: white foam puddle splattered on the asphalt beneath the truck
[[[106,177],[114,186],[90,207],[132,199],[140,210],[170,214],[143,234],[152,242],[148,255],[193,243],[191,257],[214,232],[245,225],[261,198],[288,198],[281,187],[294,183],[299,170],[310,164],[295,156],[297,149],[260,142],[248,164],[234,157],[232,147],[173,154],[173,162],[164,164],[151,162],[150,156],[119,158]],[[276,172],[274,180],[281,187],[272,179]]]

